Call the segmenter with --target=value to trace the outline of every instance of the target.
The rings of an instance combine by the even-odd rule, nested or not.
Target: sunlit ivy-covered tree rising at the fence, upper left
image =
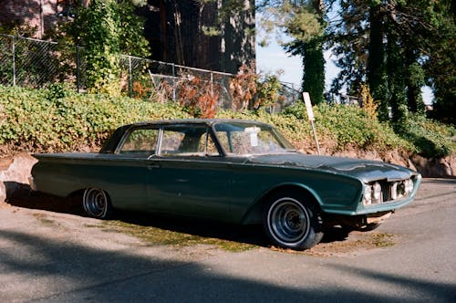
[[[78,7],[74,22],[63,26],[61,36],[69,35],[84,47],[84,77],[89,92],[119,95],[119,54],[150,54],[149,42],[142,35],[144,20],[134,14],[135,3],[93,0],[87,8]]]

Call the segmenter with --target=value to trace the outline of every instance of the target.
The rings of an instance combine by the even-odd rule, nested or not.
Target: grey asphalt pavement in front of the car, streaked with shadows
[[[316,253],[233,253],[147,245],[78,214],[0,206],[0,302],[456,302],[455,217],[456,180],[426,179],[371,234],[394,245],[358,246],[350,234]]]

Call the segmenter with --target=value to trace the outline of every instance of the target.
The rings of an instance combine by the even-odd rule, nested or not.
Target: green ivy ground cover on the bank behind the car
[[[314,107],[316,131],[327,152],[410,151],[426,157],[456,152],[456,129],[410,116],[401,124],[400,137],[389,125],[380,123],[368,111],[355,106]],[[217,118],[261,120],[275,125],[296,148],[315,148],[304,103],[283,113],[264,110],[219,110]],[[80,95],[64,85],[48,89],[0,86],[0,145],[16,151],[78,151],[98,148],[117,127],[140,120],[190,118],[177,103]],[[453,138],[453,139],[451,139]],[[452,141],[451,141],[452,140]]]

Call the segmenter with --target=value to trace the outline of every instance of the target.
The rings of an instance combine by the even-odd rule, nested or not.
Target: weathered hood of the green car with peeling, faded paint
[[[417,172],[387,162],[343,157],[315,156],[301,153],[253,156],[246,163],[269,164],[290,168],[303,168],[351,176],[364,183],[385,180],[409,179]]]

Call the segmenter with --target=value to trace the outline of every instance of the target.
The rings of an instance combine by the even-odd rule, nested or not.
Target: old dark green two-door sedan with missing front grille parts
[[[165,120],[120,127],[98,153],[34,154],[35,190],[79,193],[113,210],[263,224],[276,246],[315,246],[329,226],[378,226],[417,193],[420,174],[386,162],[306,155],[270,125]]]

